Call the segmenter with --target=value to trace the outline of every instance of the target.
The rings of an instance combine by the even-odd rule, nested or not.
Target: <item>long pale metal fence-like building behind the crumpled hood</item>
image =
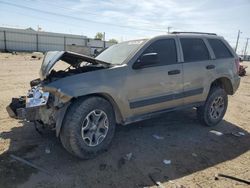
[[[0,27],[0,51],[46,52],[68,50],[93,55],[113,45],[111,42],[95,40],[81,35],[35,31],[32,28],[13,29]]]

